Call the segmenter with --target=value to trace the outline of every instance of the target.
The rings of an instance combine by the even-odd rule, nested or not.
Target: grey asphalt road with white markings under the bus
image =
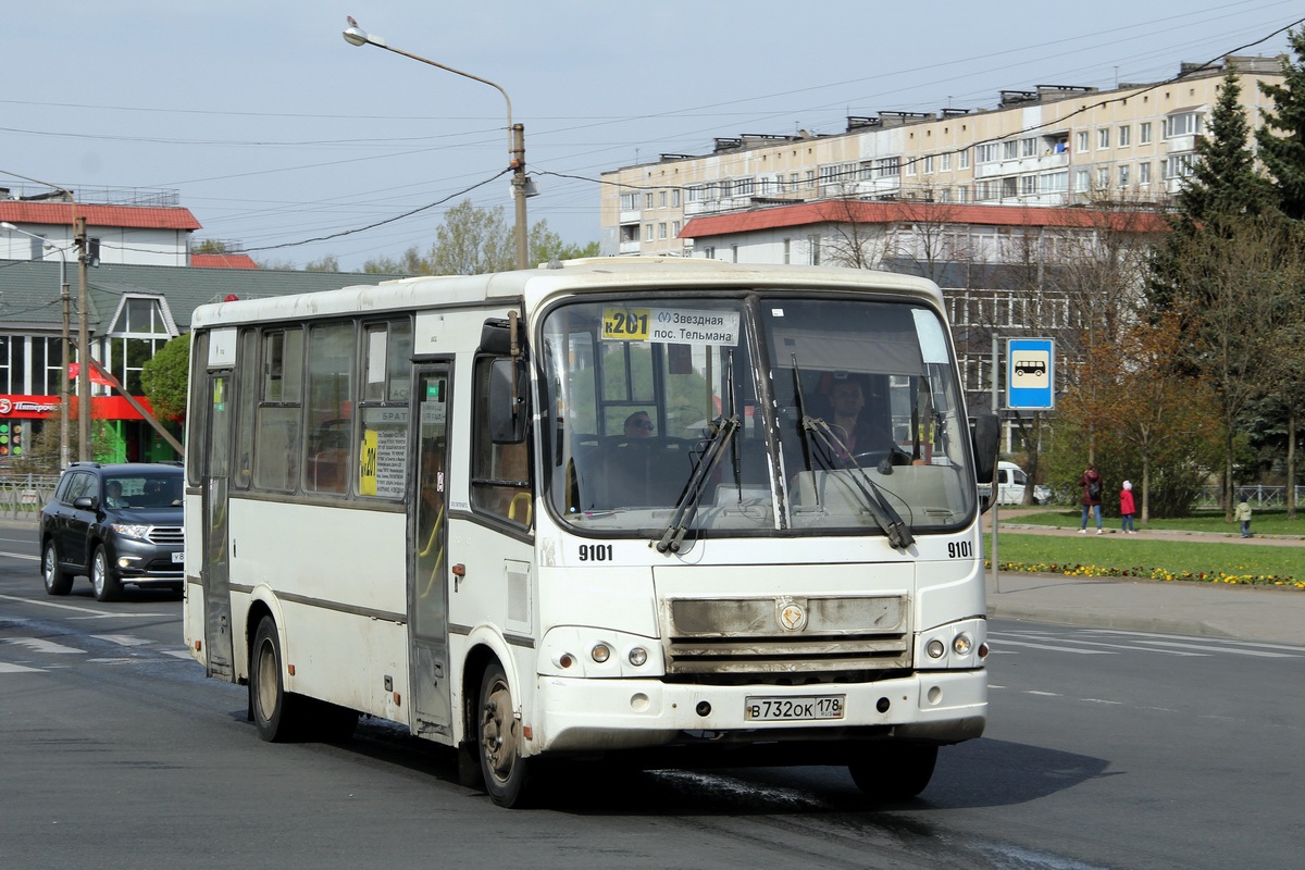
[[[549,807],[457,784],[453,755],[364,721],[269,745],[206,681],[180,603],[44,595],[0,528],[5,867],[1296,867],[1305,647],[994,620],[992,719],[920,800],[842,768],[595,767]]]

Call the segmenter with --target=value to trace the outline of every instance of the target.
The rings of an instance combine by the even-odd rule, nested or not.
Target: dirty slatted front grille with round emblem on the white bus
[[[669,599],[668,674],[840,673],[911,664],[906,596]]]

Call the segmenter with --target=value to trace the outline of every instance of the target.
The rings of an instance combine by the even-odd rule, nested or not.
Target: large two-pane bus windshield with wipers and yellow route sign
[[[658,537],[675,518],[693,535],[910,541],[975,509],[946,330],[925,305],[586,297],[548,312],[542,357],[543,479],[574,531]]]

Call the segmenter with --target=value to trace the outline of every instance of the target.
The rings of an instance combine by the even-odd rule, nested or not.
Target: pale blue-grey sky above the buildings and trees
[[[14,1],[0,50],[0,185],[40,189],[20,175],[175,190],[204,224],[200,239],[296,265],[334,254],[346,270],[424,250],[444,210],[467,197],[502,205],[510,222],[508,177],[493,177],[508,164],[502,97],[348,46],[346,16],[395,48],[502,86],[540,190],[530,220],[587,243],[599,237],[606,170],[709,153],[715,137],[838,133],[848,115],[992,108],[1004,89],[1161,81],[1181,61],[1285,51],[1287,35],[1271,34],[1305,8]],[[320,236],[335,237],[301,244]]]

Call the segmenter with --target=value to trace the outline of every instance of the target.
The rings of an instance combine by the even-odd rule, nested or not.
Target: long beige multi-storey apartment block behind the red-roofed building
[[[600,247],[608,256],[703,256],[684,232],[694,218],[830,200],[1164,205],[1191,171],[1228,64],[1258,124],[1268,104],[1257,81],[1280,82],[1280,57],[1184,64],[1173,80],[1112,90],[1005,90],[996,108],[852,116],[837,134],[716,138],[710,154],[604,172]],[[733,252],[713,247],[711,256]]]

